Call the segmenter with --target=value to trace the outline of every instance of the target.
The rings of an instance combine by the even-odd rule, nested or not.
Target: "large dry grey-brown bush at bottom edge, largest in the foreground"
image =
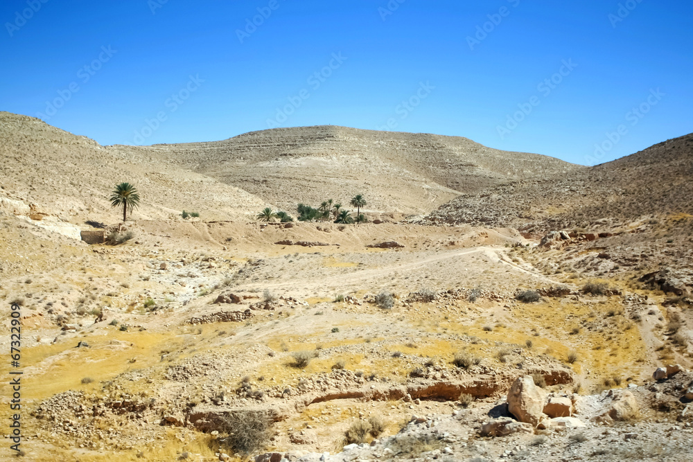
[[[236,411],[221,418],[219,439],[231,452],[252,454],[270,440],[272,420],[262,411]]]

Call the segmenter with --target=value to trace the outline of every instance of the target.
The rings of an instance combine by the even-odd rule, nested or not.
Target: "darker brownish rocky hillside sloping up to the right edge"
[[[592,168],[464,194],[429,219],[546,231],[690,214],[692,177],[693,134],[688,134]]]

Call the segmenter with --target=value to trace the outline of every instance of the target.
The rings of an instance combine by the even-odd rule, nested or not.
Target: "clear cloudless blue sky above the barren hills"
[[[331,124],[601,163],[693,132],[692,19],[672,0],[6,0],[0,109],[104,145]]]

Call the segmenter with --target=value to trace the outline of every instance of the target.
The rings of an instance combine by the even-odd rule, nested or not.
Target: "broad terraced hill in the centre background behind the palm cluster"
[[[459,193],[582,170],[538,154],[458,136],[347,127],[279,128],[225,141],[155,145],[186,168],[293,210],[297,203],[367,197],[367,211],[428,213]]]

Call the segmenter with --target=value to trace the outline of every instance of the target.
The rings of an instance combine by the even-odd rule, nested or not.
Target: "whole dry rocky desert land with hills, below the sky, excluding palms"
[[[0,158],[20,460],[690,459],[693,134],[586,167],[328,125],[103,146],[0,112]]]

